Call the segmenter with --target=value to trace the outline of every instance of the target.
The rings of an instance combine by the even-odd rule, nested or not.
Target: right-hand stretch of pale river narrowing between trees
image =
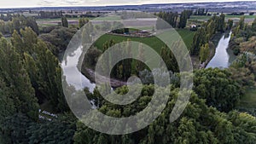
[[[218,68],[227,68],[230,64],[236,59],[236,55],[233,54],[233,51],[229,48],[230,43],[230,33],[224,33],[223,36],[218,41],[218,45],[215,51],[215,55],[212,60],[207,65],[207,68],[218,67]]]

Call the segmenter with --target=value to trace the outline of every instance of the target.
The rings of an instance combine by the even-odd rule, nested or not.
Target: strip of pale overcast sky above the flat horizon
[[[106,6],[137,5],[145,3],[233,2],[236,0],[0,0],[0,8],[47,7],[47,6]],[[242,1],[242,0],[240,0]],[[247,0],[253,1],[253,0]],[[254,0],[255,1],[255,0]]]

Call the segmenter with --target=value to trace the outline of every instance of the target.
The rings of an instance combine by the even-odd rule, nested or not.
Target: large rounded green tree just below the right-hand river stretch
[[[242,95],[241,85],[231,78],[227,70],[198,70],[194,84],[195,93],[206,99],[208,106],[217,107],[219,111],[229,112],[236,107]]]

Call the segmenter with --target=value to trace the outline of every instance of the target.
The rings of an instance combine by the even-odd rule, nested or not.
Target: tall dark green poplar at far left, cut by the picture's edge
[[[16,112],[23,112],[29,118],[38,119],[38,99],[28,74],[20,60],[20,55],[15,52],[7,40],[0,41],[0,76],[9,87],[9,95],[14,101]]]

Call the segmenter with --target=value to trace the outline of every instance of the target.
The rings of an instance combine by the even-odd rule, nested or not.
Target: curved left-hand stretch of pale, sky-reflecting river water
[[[90,89],[90,92],[96,87],[96,84],[90,82],[78,69],[79,57],[82,54],[83,47],[75,49],[73,52],[67,53],[61,62],[63,74],[66,77],[67,84],[73,85],[75,89]]]

